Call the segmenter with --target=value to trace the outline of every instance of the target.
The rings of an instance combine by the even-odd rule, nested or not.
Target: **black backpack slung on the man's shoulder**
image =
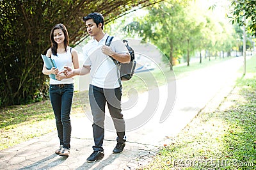
[[[113,40],[113,36],[108,36],[107,40],[106,40],[106,45],[110,46],[112,40]],[[135,55],[134,55],[134,50],[132,49],[132,47],[129,46],[128,41],[127,40],[123,40],[125,47],[127,47],[130,56],[131,56],[131,60],[129,63],[120,63],[118,61],[116,61],[115,59],[113,59],[115,65],[117,66],[119,73],[120,73],[120,79],[121,81],[129,81],[129,79],[132,78],[132,75],[134,74],[134,70],[136,67],[136,61],[135,61]],[[119,84],[121,85],[120,79],[118,79]]]

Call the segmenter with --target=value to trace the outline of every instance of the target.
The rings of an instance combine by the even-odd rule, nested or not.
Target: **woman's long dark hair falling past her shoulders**
[[[54,32],[55,29],[61,29],[64,33],[64,36],[65,36],[64,45],[65,45],[65,51],[66,52],[67,52],[67,47],[68,47],[68,44],[69,44],[69,37],[68,37],[68,30],[63,24],[56,24],[54,27],[52,27],[51,34],[50,34],[50,39],[51,39],[51,42],[52,42],[51,50],[52,50],[52,54],[54,56],[57,56],[58,44],[54,41],[54,37],[53,37],[53,32]]]

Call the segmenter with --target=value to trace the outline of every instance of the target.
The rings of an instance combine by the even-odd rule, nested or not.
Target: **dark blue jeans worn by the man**
[[[121,109],[122,88],[102,89],[90,84],[89,100],[93,116],[93,150],[103,151],[105,106],[108,105],[109,114],[116,129],[116,141],[125,143],[125,121]]]

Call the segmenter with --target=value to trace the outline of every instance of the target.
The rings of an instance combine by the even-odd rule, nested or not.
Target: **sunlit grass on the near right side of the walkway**
[[[240,69],[243,73],[243,68]],[[216,111],[202,111],[140,169],[256,169],[256,57]]]

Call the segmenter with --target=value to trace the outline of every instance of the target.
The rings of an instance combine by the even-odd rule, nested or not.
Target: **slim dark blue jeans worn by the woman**
[[[63,148],[70,149],[70,111],[74,95],[74,84],[50,84],[49,95],[60,144],[63,145]]]

